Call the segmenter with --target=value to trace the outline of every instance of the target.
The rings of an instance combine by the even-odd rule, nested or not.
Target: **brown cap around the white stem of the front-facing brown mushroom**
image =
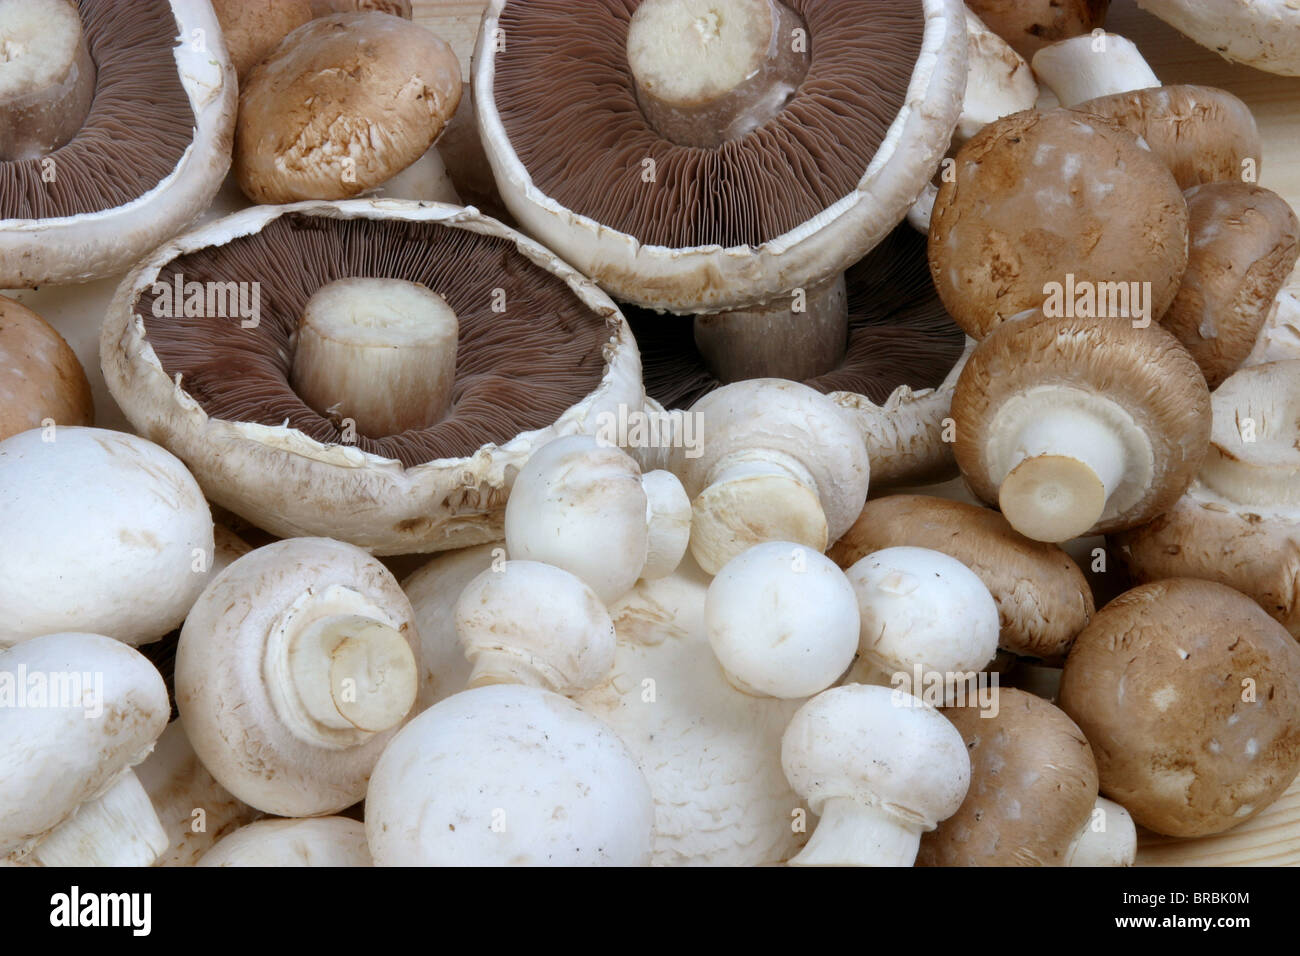
[[[1049,319],[996,328],[967,362],[953,393],[953,455],[971,490],[998,501],[989,446],[1002,406],[1035,385],[1065,386],[1118,405],[1147,436],[1150,480],[1112,496],[1089,533],[1132,528],[1167,511],[1187,490],[1209,446],[1210,395],[1196,363],[1158,326],[1122,319]],[[1121,485],[1123,489],[1124,485]],[[1122,509],[1115,501],[1127,501]]]

